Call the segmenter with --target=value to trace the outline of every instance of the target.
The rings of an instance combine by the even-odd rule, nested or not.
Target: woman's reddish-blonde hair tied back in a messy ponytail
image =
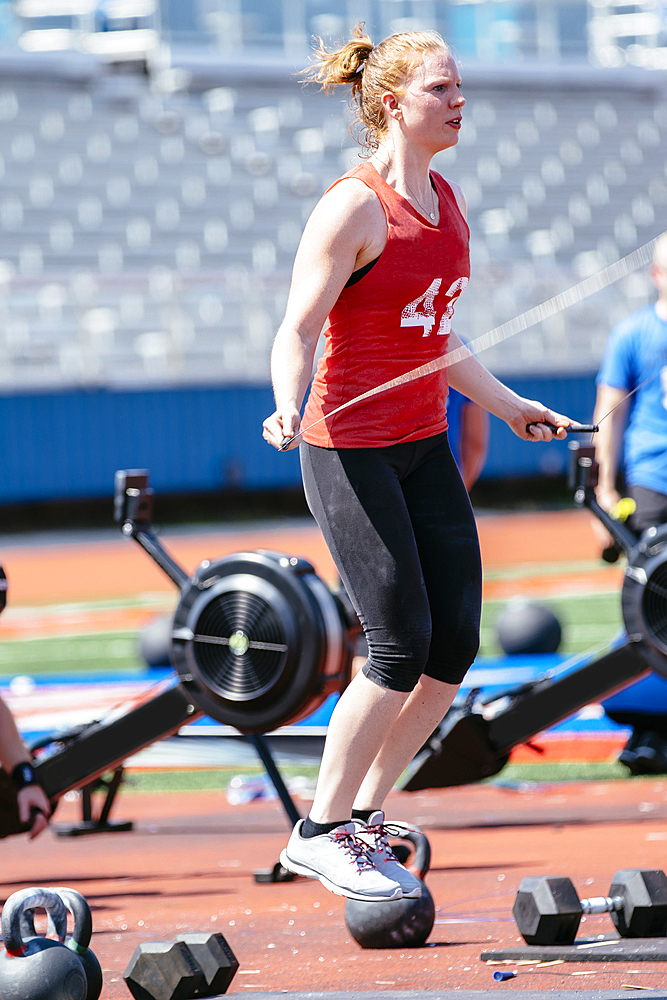
[[[388,128],[382,95],[390,91],[402,97],[408,77],[427,52],[450,50],[437,31],[403,31],[373,45],[362,22],[355,26],[353,35],[335,51],[329,51],[317,38],[314,57],[319,65],[304,73],[307,80],[320,83],[325,92],[341,84],[352,85],[354,117],[365,129],[363,145],[373,153]]]

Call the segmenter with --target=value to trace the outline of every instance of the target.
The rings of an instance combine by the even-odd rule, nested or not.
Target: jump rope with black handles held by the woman
[[[588,278],[584,278],[583,281],[578,282],[576,285],[572,285],[565,291],[559,292],[557,295],[553,295],[550,299],[547,299],[540,305],[533,306],[532,309],[527,309],[526,312],[520,313],[518,316],[515,316],[514,319],[510,319],[506,323],[501,323],[500,326],[494,327],[493,330],[489,330],[487,333],[482,334],[480,337],[472,340],[469,344],[457,347],[456,350],[451,351],[440,358],[429,361],[425,365],[420,365],[418,368],[413,368],[411,371],[405,372],[405,374],[399,375],[397,378],[390,379],[388,382],[383,382],[381,385],[375,386],[374,389],[362,392],[360,395],[355,396],[354,399],[349,399],[346,403],[342,403],[340,406],[337,406],[335,410],[331,410],[330,413],[327,413],[325,416],[313,421],[313,423],[308,427],[304,427],[297,431],[293,437],[284,437],[279,450],[287,451],[288,449],[293,448],[295,445],[299,444],[306,431],[311,430],[313,427],[317,427],[318,424],[321,424],[325,420],[331,420],[344,410],[349,410],[353,406],[358,406],[359,403],[363,403],[367,399],[371,399],[373,396],[378,396],[382,392],[388,392],[390,389],[396,389],[398,386],[406,385],[408,382],[414,382],[416,379],[424,378],[426,375],[432,375],[435,372],[449,368],[451,365],[455,365],[459,361],[464,361],[471,355],[476,357],[478,354],[481,354],[482,351],[488,350],[489,347],[501,344],[503,341],[509,340],[510,337],[516,336],[517,333],[523,333],[524,330],[528,330],[530,327],[536,326],[545,319],[549,319],[551,316],[555,316],[557,313],[563,312],[570,306],[576,305],[578,302],[582,302],[584,299],[589,298],[589,296],[594,295],[595,292],[602,291],[603,288],[608,288],[609,285],[613,285],[616,281],[620,281],[621,278],[625,278],[628,274],[632,274],[634,271],[638,271],[639,268],[645,267],[649,264],[653,258],[653,250],[656,243],[664,235],[665,233],[661,233],[654,239],[649,240],[648,243],[644,243],[644,245],[639,247],[637,250],[633,250],[632,253],[627,255],[627,257],[622,257],[620,260],[614,261],[613,264],[609,264],[596,274],[593,274]],[[635,388],[620,399],[618,403],[611,408],[611,410],[605,413],[604,416],[600,417],[597,424],[579,424],[573,421],[565,427],[566,432],[568,434],[594,434],[599,430],[599,425],[602,421],[606,420],[607,417],[614,412],[617,406],[624,403],[626,399],[634,395],[638,389],[641,389],[643,385],[650,382],[651,379],[657,376],[657,374],[658,372],[649,375],[649,377],[644,379],[644,381],[638,386],[635,386]],[[540,423],[544,423],[550,430],[558,430],[558,427],[555,424],[548,423],[547,421],[540,421]],[[526,425],[527,433],[530,433],[530,428],[533,426],[535,426],[534,423]]]

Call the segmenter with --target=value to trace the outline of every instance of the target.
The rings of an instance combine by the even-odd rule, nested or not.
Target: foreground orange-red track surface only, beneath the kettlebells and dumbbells
[[[511,907],[524,875],[568,875],[580,895],[605,895],[617,868],[664,867],[667,781],[395,793],[388,813],[422,825],[433,848],[427,884],[437,914],[424,947],[364,951],[345,927],[344,900],[319,882],[256,884],[253,870],[272,866],[286,842],[285,816],[275,802],[230,806],[222,792],[123,795],[116,815],[135,821],[131,833],[6,840],[2,889],[69,885],[87,897],[104,1000],[129,996],[122,974],[138,944],[188,931],[226,937],[240,962],[231,993],[667,982],[667,964],[582,963],[518,967],[508,985],[495,983],[479,958],[517,943]],[[78,814],[64,803],[57,819],[67,818]],[[608,917],[588,917],[581,932],[611,929]]]

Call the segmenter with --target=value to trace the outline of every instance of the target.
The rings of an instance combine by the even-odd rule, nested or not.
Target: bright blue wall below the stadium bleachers
[[[592,415],[592,375],[508,383],[574,419]],[[268,386],[0,396],[0,504],[110,496],[115,470],[128,468],[150,469],[162,493],[296,486],[296,453],[261,436],[272,408]],[[566,444],[522,443],[493,419],[484,477],[558,475],[566,458]]]

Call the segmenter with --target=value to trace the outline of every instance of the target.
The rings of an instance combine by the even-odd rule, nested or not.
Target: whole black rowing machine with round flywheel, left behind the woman
[[[304,559],[267,551],[205,559],[189,577],[152,530],[152,508],[148,472],[117,472],[122,534],[180,591],[175,672],[103,718],[40,741],[37,780],[55,802],[206,714],[250,738],[294,823],[298,813],[262,734],[312,714],[347,685],[360,631],[347,595],[330,590]],[[11,801],[1,803],[0,837],[26,829]]]

